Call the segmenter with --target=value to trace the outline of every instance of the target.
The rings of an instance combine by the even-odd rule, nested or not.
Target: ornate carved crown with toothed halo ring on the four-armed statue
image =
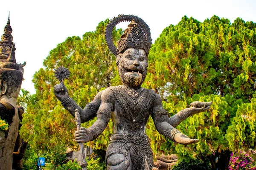
[[[113,28],[122,21],[131,21],[128,28],[125,29],[121,39],[116,42],[117,48],[113,44],[112,31]],[[127,48],[143,49],[148,55],[152,39],[150,34],[150,28],[139,17],[134,15],[119,15],[114,17],[108,24],[105,30],[105,39],[108,44],[108,48],[116,56],[121,54]]]

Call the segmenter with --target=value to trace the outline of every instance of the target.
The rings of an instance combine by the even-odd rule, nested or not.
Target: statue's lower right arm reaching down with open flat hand
[[[155,98],[151,116],[154,120],[157,131],[172,141],[178,142],[180,144],[192,144],[198,142],[198,139],[190,139],[188,136],[184,135],[167,122],[167,111],[163,108],[161,96],[158,94]]]

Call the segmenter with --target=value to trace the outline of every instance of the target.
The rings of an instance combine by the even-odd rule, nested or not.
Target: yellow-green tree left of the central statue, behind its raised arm
[[[96,31],[86,32],[82,39],[68,37],[50,51],[44,60],[45,68],[35,73],[32,81],[36,90],[34,100],[37,102],[27,106],[20,130],[31,149],[53,152],[60,150],[60,146],[77,148],[74,141],[75,119],[53,94],[53,86],[59,83],[54,77],[54,69],[60,66],[69,68],[71,75],[64,83],[70,96],[82,108],[92,101],[99,91],[119,84],[115,56],[105,43],[104,31],[108,23],[109,20],[100,22]],[[121,33],[122,29],[113,31],[114,42],[119,39]],[[89,127],[95,120],[82,126]],[[101,136],[87,145],[106,150],[108,136],[112,133],[112,124],[109,123],[109,126]]]

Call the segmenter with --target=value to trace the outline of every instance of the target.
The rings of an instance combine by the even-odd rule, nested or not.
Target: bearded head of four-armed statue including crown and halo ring
[[[113,28],[122,21],[131,21],[121,39],[113,44]],[[128,88],[138,88],[147,75],[148,52],[151,34],[147,24],[134,15],[119,15],[113,18],[105,31],[105,38],[111,52],[116,55],[116,65],[122,83]]]

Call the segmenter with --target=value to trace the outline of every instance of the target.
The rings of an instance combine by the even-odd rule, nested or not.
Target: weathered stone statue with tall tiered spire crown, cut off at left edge
[[[23,109],[17,106],[17,97],[23,80],[23,65],[15,59],[10,19],[4,27],[0,41],[0,118],[9,127],[0,131],[0,170],[12,170],[12,158]]]

